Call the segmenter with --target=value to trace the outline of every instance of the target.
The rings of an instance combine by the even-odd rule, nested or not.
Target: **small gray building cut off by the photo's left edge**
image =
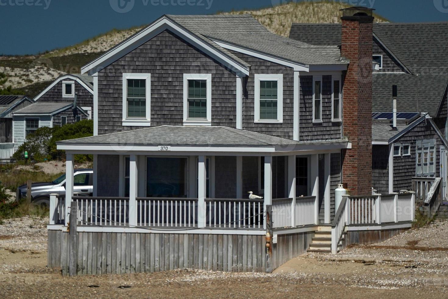
[[[0,159],[14,153],[13,112],[32,103],[26,95],[0,95]]]

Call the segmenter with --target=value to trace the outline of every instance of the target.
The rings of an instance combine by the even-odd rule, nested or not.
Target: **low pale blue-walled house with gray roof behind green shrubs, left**
[[[40,127],[63,126],[88,119],[87,111],[73,102],[37,102],[12,114],[14,152]]]

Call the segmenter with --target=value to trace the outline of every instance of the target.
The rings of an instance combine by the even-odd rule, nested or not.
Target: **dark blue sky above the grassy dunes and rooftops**
[[[163,14],[212,14],[232,9],[257,9],[285,1],[0,0],[0,54],[32,54],[61,48],[113,28],[148,24]],[[377,13],[392,22],[448,20],[448,0],[334,1],[353,6],[373,4]]]

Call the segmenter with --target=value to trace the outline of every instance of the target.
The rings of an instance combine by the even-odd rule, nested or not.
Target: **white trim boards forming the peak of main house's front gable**
[[[123,42],[117,44],[115,47],[111,48],[107,52],[98,58],[90,61],[86,65],[82,66],[81,73],[84,74],[88,72],[89,74],[97,73],[99,70],[104,69],[106,66],[110,65],[112,62],[116,61],[119,57],[122,57],[135,48],[139,47],[146,41],[152,39],[154,36],[163,32],[164,30],[170,30],[176,35],[180,36],[185,41],[191,43],[199,50],[205,52],[208,56],[215,58],[220,61],[223,65],[226,65],[229,69],[232,69],[237,74],[249,75],[249,68],[242,65],[240,62],[233,59],[228,54],[219,51],[217,48],[213,47],[211,44],[207,43],[203,39],[199,38],[194,33],[185,29],[184,27],[177,24],[168,16],[162,16],[155,22],[146,26],[142,30],[138,31],[134,35],[125,39]]]

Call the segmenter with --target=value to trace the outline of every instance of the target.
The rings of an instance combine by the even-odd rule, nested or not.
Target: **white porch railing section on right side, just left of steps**
[[[315,225],[319,219],[316,196],[272,199],[273,228]],[[294,216],[292,216],[294,215]]]

